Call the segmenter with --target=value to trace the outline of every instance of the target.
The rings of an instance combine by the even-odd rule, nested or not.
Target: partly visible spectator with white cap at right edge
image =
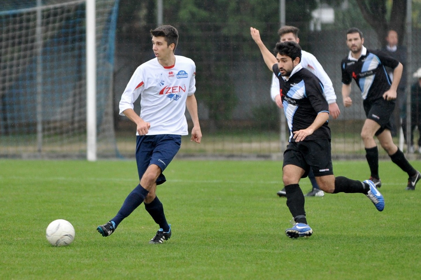
[[[421,153],[421,68],[418,69],[413,74],[414,78],[417,78],[416,81],[411,86],[411,138],[410,138],[410,146],[408,147],[408,151],[412,154],[415,151],[414,147],[414,130],[418,127],[419,131],[419,138],[418,138],[418,152]],[[405,104],[405,102],[404,102]],[[407,141],[406,138],[406,105],[403,106],[402,110],[402,129],[403,135],[405,137],[405,142]]]

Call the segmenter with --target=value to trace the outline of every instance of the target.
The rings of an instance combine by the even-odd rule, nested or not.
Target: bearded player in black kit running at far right
[[[346,32],[346,44],[349,55],[342,60],[342,97],[344,106],[352,105],[351,81],[354,79],[361,90],[364,111],[367,119],[362,126],[361,138],[364,142],[370,180],[377,188],[381,181],[378,174],[378,149],[374,136],[397,166],[408,173],[407,190],[415,190],[421,173],[414,169],[402,151],[393,143],[390,129],[390,116],[394,110],[396,90],[402,76],[402,64],[385,52],[368,50],[364,44],[362,32],[351,28]],[[385,66],[393,70],[393,81],[387,75]]]

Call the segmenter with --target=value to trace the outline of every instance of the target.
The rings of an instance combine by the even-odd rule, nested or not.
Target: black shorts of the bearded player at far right
[[[365,101],[363,102],[365,116],[380,125],[378,131],[376,131],[376,136],[382,133],[385,129],[392,129],[390,116],[393,113],[395,103],[395,100],[386,101],[383,98],[370,103]]]

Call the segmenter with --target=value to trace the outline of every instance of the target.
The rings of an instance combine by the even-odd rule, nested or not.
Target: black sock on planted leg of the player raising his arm
[[[306,211],[304,210],[304,194],[300,185],[291,184],[285,186],[287,206],[290,209],[295,222],[307,224]]]

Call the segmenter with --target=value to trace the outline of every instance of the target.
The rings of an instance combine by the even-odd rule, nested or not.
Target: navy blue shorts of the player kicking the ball
[[[170,164],[181,147],[181,135],[138,135],[136,137],[136,163],[139,181],[151,164],[161,168],[157,185],[167,181],[162,172]]]

